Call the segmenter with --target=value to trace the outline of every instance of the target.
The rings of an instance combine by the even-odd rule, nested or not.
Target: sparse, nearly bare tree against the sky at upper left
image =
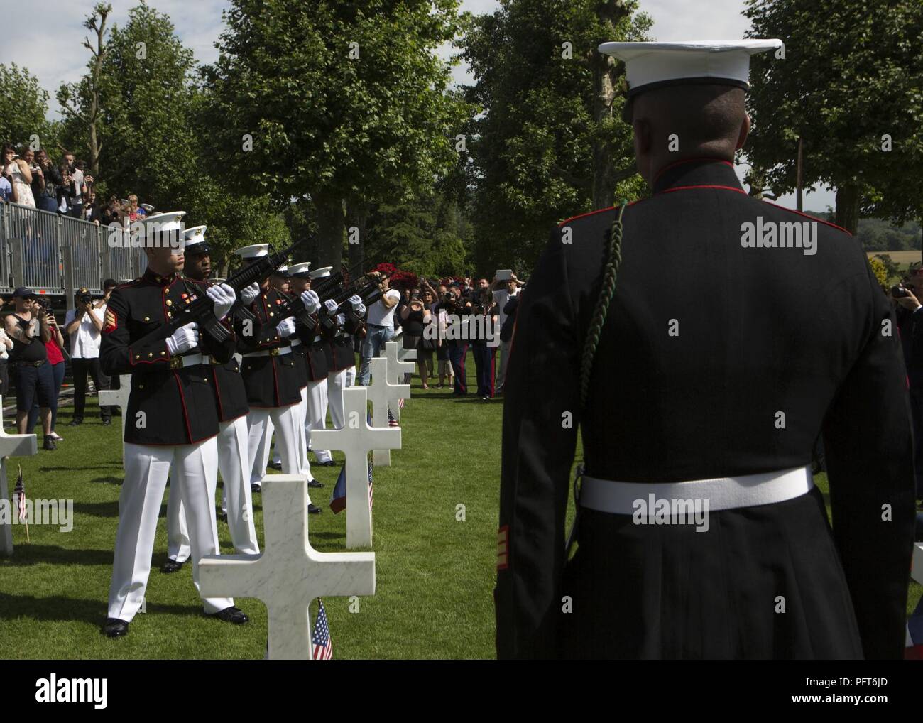
[[[62,83],[57,91],[57,101],[64,114],[88,134],[90,150],[90,170],[93,176],[100,175],[100,153],[102,144],[99,140],[99,124],[102,117],[100,95],[102,93],[102,67],[106,56],[106,19],[113,11],[113,6],[98,3],[93,12],[83,23],[83,27],[96,33],[95,47],[89,38],[84,38],[83,47],[90,51],[90,72],[79,83]]]

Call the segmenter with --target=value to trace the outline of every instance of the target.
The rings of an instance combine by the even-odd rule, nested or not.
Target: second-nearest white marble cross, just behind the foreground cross
[[[375,361],[374,359],[372,361]],[[372,546],[372,512],[368,509],[368,452],[385,447],[401,449],[401,429],[369,427],[366,418],[368,387],[343,390],[342,429],[313,429],[311,438],[325,450],[346,452],[346,547]]]

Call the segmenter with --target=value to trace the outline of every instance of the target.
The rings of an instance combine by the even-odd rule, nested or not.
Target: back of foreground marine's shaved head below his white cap
[[[746,93],[726,85],[642,92],[629,113],[638,171],[649,184],[669,163],[700,156],[733,161],[749,132]]]

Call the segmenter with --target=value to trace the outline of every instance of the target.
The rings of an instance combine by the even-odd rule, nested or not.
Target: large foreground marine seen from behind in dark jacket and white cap
[[[778,45],[601,46],[626,61],[653,196],[561,223],[522,296],[498,657],[903,655],[914,468],[892,305],[855,238],[749,197],[732,163],[749,54]],[[788,240],[758,245],[757,228]],[[810,475],[821,432],[833,530]],[[684,500],[706,514],[680,515]]]

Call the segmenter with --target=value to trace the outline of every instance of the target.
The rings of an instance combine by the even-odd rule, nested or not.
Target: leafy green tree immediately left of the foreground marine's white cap
[[[529,267],[563,218],[641,194],[624,66],[600,42],[644,40],[633,0],[501,0],[462,40],[476,82],[470,124],[475,263]]]

